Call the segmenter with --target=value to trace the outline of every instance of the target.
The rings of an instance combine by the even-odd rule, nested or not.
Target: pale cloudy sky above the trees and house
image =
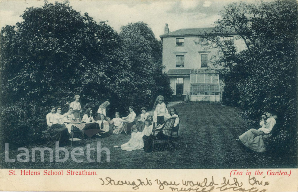
[[[232,1],[236,0],[70,0],[70,5],[82,15],[89,13],[95,21],[108,21],[117,32],[128,23],[144,21],[160,40],[166,23],[170,32],[214,26],[214,21],[220,19],[219,11]],[[43,5],[43,0],[0,0],[0,27],[21,22],[26,7]]]

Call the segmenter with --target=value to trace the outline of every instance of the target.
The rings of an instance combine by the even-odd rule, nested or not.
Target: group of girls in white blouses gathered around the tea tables
[[[109,124],[113,126],[112,132],[114,134],[119,134],[123,126],[121,121],[126,120],[128,123],[127,131],[131,131],[132,138],[128,142],[130,144],[124,145],[125,147],[123,146],[123,150],[130,151],[134,149],[142,149],[144,147],[143,141],[148,143],[147,141],[150,135],[152,135],[153,127],[162,127],[165,119],[176,117],[174,126],[179,124],[179,116],[176,110],[173,108],[170,110],[171,115],[168,113],[163,96],[158,96],[156,98],[156,101],[153,105],[153,117],[147,112],[145,107],[141,108],[140,119],[137,120],[139,122],[139,126],[137,126],[135,122],[136,113],[134,112],[133,106],[128,107],[130,113],[126,117],[120,118],[119,112],[115,113],[115,118],[113,119],[106,117],[106,107],[108,107],[110,104],[108,101],[105,101],[99,106],[97,110],[97,121],[95,121],[92,116],[93,111],[91,108],[86,110],[83,118],[81,119],[82,108],[79,100],[80,96],[75,95],[75,101],[70,104],[68,112],[64,113],[63,115],[61,114],[61,106],[51,107],[51,112],[46,115],[47,125],[49,126],[48,132],[50,133],[49,144],[54,145],[55,141],[59,141],[60,145],[65,145],[70,137],[71,129],[75,128],[74,125],[71,124],[71,122],[74,121],[85,122],[83,135],[87,135],[89,138],[99,138],[103,135],[107,135],[110,130]],[[139,127],[140,129],[143,129],[142,132],[139,132]],[[140,135],[142,135],[142,137]],[[142,141],[137,139],[140,137],[142,138]],[[136,142],[136,140],[138,140],[138,142]],[[140,144],[139,142],[143,144]],[[139,144],[136,145],[136,143]]]

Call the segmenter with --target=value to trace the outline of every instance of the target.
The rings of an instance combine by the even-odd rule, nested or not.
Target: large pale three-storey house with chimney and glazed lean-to
[[[179,29],[169,32],[166,24],[162,39],[162,64],[170,78],[174,100],[220,102],[222,81],[218,70],[211,63],[218,56],[218,49],[210,48],[201,38],[213,28]],[[231,33],[225,40],[240,43]]]

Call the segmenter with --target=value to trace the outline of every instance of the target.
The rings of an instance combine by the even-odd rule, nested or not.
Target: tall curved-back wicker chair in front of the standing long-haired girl
[[[168,152],[175,149],[172,142],[175,119],[176,117],[169,118],[161,129],[153,129],[152,152]]]

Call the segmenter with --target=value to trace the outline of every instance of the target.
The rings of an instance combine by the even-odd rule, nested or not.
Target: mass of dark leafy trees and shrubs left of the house
[[[125,50],[125,36],[87,13],[81,15],[67,1],[27,8],[21,17],[24,21],[5,26],[0,34],[2,143],[38,141],[37,120],[45,118],[52,105],[61,105],[65,113],[66,103],[76,94],[81,96],[83,112],[90,107],[94,115],[109,100],[112,116],[115,111],[126,116],[129,105],[137,113],[141,107],[150,109],[157,94],[163,90],[166,98],[171,94],[162,74],[161,42],[146,24],[137,30],[148,31],[150,39],[136,40],[155,47],[144,50],[142,60],[133,60]],[[150,67],[135,70],[144,61]]]

